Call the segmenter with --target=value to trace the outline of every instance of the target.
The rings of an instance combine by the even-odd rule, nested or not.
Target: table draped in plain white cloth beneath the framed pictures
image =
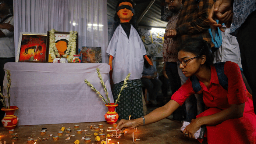
[[[85,83],[87,79],[105,96],[96,68],[111,93],[108,64],[8,62],[11,106],[17,106],[18,125],[45,125],[105,121],[102,99]],[[6,85],[6,76],[4,85]]]

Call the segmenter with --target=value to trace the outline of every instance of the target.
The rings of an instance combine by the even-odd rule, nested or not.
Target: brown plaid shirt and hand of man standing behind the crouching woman
[[[189,38],[202,38],[211,44],[208,15],[213,6],[213,0],[185,0],[176,29],[170,30],[167,36],[175,37],[183,42]]]

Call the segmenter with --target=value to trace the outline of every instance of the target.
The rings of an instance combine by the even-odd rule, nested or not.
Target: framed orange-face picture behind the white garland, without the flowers
[[[64,55],[67,47],[68,47],[68,40],[70,33],[69,32],[54,32],[55,35],[55,44],[58,50],[58,53],[60,55]],[[47,32],[47,45],[46,45],[46,53],[47,53],[47,61],[52,62],[50,51],[49,51],[49,42],[50,42],[50,32]],[[78,33],[77,33],[77,39],[76,39],[76,51],[75,54],[78,54]]]

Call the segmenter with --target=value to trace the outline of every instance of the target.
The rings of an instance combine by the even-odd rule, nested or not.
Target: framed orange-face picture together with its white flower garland
[[[48,62],[54,58],[64,57],[69,62],[73,55],[78,54],[78,32],[47,31],[46,57]]]

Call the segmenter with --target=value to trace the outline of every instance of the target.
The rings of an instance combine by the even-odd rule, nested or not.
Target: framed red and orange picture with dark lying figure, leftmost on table
[[[21,32],[15,62],[47,62],[46,33]]]

